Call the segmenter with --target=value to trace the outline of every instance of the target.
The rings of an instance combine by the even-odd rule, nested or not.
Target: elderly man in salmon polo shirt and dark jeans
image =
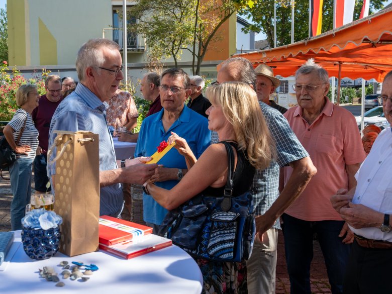
[[[366,156],[354,116],[326,97],[329,78],[324,68],[308,60],[297,70],[293,89],[299,106],[289,109],[284,117],[310,154],[317,174],[282,215],[290,292],[311,293],[310,265],[316,233],[332,293],[342,293],[353,234],[330,198],[339,188],[356,185],[354,175]],[[283,168],[282,184],[291,172],[291,167]]]

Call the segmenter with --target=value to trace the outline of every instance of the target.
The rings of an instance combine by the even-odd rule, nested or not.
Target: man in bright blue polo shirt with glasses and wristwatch
[[[180,68],[170,68],[162,73],[159,93],[163,109],[143,121],[135,157],[154,154],[159,144],[167,141],[171,132],[186,140],[196,158],[207,149],[211,142],[208,120],[184,104],[191,92],[189,86],[189,77]],[[185,159],[175,148],[166,153],[158,163],[151,180],[165,189],[175,186],[187,172]],[[158,232],[166,214],[166,209],[149,195],[143,194],[143,218],[153,228],[153,233]]]

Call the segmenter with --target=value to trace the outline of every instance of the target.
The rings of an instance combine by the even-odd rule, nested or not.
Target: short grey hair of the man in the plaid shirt
[[[230,68],[230,73],[236,81],[253,85],[253,88],[256,89],[256,72],[248,59],[243,57],[227,59],[222,63],[221,70],[226,67]]]

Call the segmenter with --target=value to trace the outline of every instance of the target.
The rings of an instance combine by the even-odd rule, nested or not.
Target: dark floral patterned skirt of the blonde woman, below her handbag
[[[203,274],[203,294],[247,294],[246,263],[197,259]]]

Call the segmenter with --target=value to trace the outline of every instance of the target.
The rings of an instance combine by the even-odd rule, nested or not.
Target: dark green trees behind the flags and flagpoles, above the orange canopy
[[[383,8],[386,0],[374,0],[370,2],[369,15]],[[253,8],[241,10],[241,14],[251,18],[253,24],[244,29],[244,32],[264,32],[268,43],[273,46],[273,5],[276,4],[276,43],[277,46],[291,42],[291,4],[295,7],[294,12],[294,41],[304,40],[309,37],[309,0],[265,0],[257,1]],[[363,1],[356,1],[353,20],[359,18]],[[327,32],[333,28],[333,0],[323,1],[323,19],[321,32]]]

